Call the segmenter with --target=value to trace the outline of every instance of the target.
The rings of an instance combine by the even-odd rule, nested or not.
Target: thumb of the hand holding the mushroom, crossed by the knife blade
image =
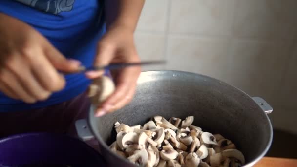
[[[112,60],[114,55],[114,48],[112,46],[106,46],[103,44],[99,44],[95,61],[94,61],[94,66],[104,66],[108,65],[110,61]],[[88,71],[85,73],[85,75],[90,78],[98,78],[104,74],[104,70],[101,71]]]

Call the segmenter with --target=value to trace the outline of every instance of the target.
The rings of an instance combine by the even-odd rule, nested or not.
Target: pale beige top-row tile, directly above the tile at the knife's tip
[[[170,32],[230,35],[234,0],[172,0]]]

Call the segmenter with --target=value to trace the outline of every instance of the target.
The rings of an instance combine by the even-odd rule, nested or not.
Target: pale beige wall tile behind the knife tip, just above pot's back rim
[[[229,40],[170,36],[167,69],[190,71],[226,81]]]

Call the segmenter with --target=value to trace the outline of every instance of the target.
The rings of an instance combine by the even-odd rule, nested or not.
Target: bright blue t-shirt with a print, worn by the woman
[[[92,65],[97,42],[105,33],[102,7],[100,0],[0,0],[0,12],[28,23],[65,57],[77,59],[86,67]],[[0,112],[59,104],[83,93],[90,83],[84,74],[67,75],[65,79],[62,91],[35,104],[25,104],[0,92]]]

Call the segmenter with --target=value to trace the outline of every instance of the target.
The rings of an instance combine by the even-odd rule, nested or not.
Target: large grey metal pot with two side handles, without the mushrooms
[[[88,120],[78,121],[77,128],[83,139],[94,136],[99,141],[101,154],[111,166],[131,167],[133,164],[108,147],[116,139],[116,121],[137,125],[155,115],[165,118],[193,115],[193,125],[231,139],[244,154],[248,167],[259,161],[271,145],[273,131],[267,116],[271,111],[263,99],[252,98],[207,76],[182,71],[148,71],[141,73],[130,104],[100,118],[93,116],[91,108]]]

